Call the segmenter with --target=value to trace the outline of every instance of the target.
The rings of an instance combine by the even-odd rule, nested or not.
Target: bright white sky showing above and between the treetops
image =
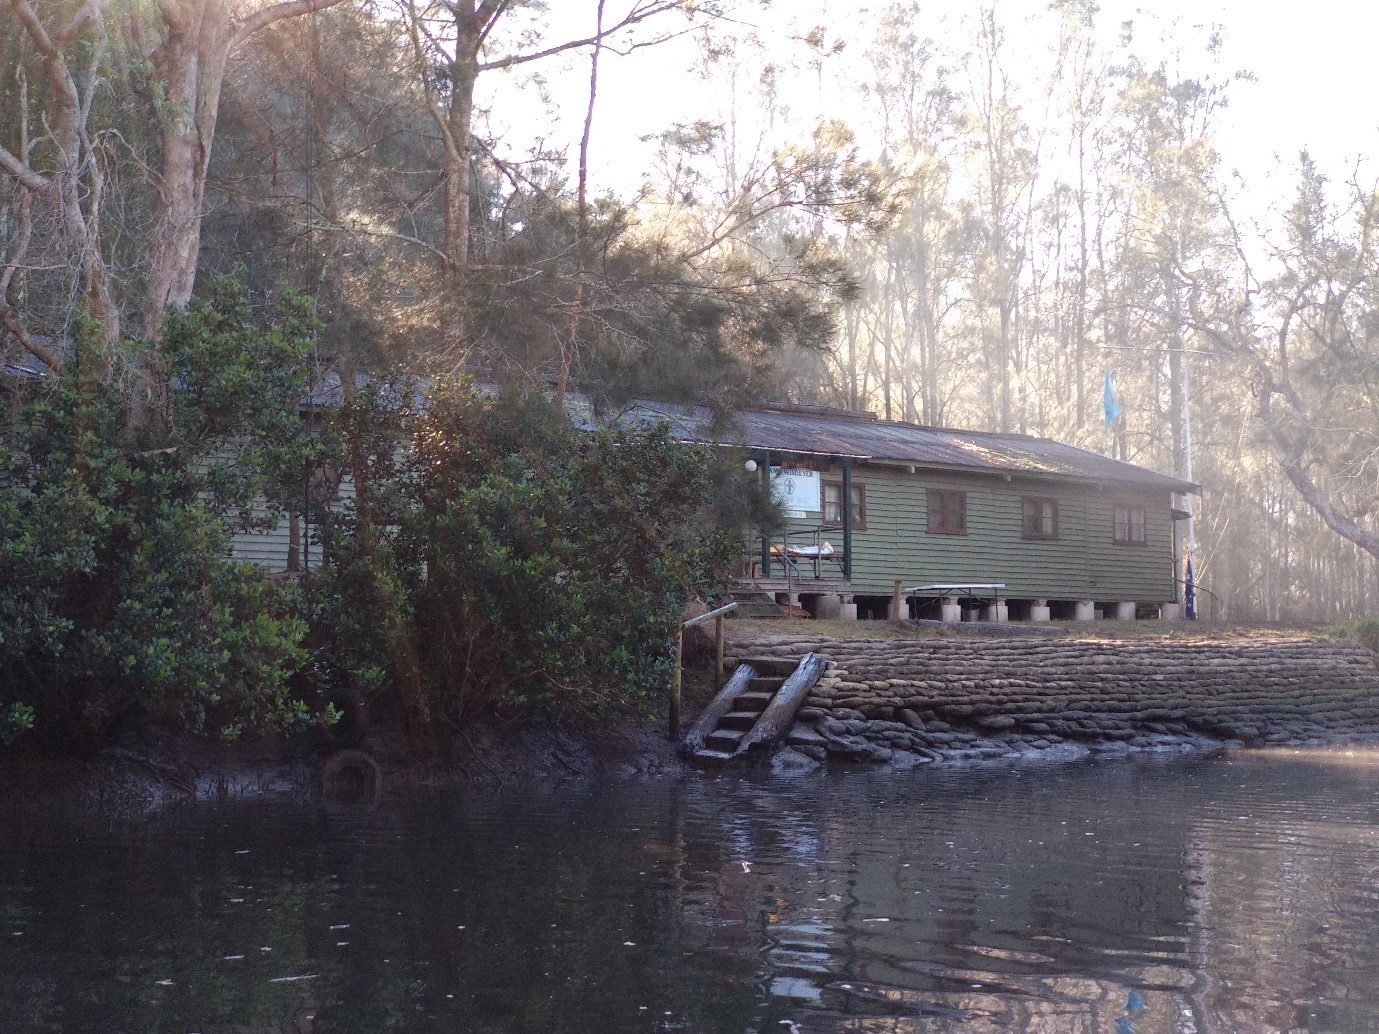
[[[630,0],[608,0],[610,17]],[[869,10],[876,3],[841,0],[775,0],[765,12],[743,4],[745,23],[729,32],[757,33],[782,58],[801,54],[790,36],[814,25],[825,25],[830,36],[848,40],[837,68],[866,48]],[[934,0],[923,4],[916,30],[921,36],[971,39],[963,26],[975,4],[971,0]],[[556,33],[579,34],[593,28],[593,0],[556,0],[549,19]],[[1043,0],[1003,0],[998,6],[1008,34],[1018,39],[1022,25],[1045,10]],[[1151,14],[1146,14],[1150,11]],[[1121,22],[1134,19],[1135,51],[1146,59],[1161,55],[1157,40],[1167,34],[1189,65],[1189,74],[1205,70],[1202,41],[1209,26],[1219,25],[1225,45],[1219,74],[1247,70],[1255,81],[1231,85],[1229,109],[1216,135],[1226,170],[1238,170],[1247,194],[1241,199],[1248,214],[1263,216],[1267,205],[1287,199],[1294,163],[1309,148],[1335,179],[1346,178],[1356,161],[1379,156],[1379,102],[1373,84],[1373,48],[1379,41],[1379,4],[1354,0],[1103,0],[1098,23],[1107,45],[1113,45]],[[1198,28],[1201,26],[1201,28]],[[1023,43],[1023,40],[1022,40]],[[1034,48],[1038,44],[1030,41]],[[1018,47],[1015,48],[1019,50]],[[677,120],[723,112],[727,101],[716,95],[690,66],[694,45],[685,40],[641,51],[632,57],[605,55],[600,69],[598,109],[592,146],[594,189],[630,193],[651,160],[651,149],[638,138],[667,128]],[[524,132],[546,135],[574,154],[587,90],[587,55],[554,59],[542,66],[549,92],[565,116],[550,123],[535,106],[523,106],[513,84],[494,77],[490,88],[503,91],[494,98],[495,110],[509,116],[513,145]],[[804,77],[789,84],[786,99],[804,113],[816,103],[818,85]],[[528,90],[531,97],[534,91]],[[750,117],[750,116],[749,116]],[[1282,161],[1280,168],[1278,161]],[[1361,165],[1362,178],[1376,175],[1373,163]]]

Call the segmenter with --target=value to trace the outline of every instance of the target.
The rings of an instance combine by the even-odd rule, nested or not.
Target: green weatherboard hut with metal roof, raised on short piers
[[[1196,484],[1048,438],[848,409],[767,405],[724,426],[643,401],[621,419],[743,451],[787,523],[752,543],[739,583],[816,616],[884,618],[898,583],[914,618],[1178,614],[1175,523]]]

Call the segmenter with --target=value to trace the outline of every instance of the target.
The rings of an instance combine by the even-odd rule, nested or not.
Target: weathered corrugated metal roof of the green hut
[[[587,403],[579,403],[574,408],[576,412],[571,412],[571,416],[576,423],[597,422]],[[672,433],[685,441],[741,445],[761,452],[889,460],[992,474],[1114,481],[1171,492],[1201,491],[1200,485],[1189,481],[1051,438],[925,427],[900,420],[878,420],[869,414],[844,415],[822,409],[792,412],[782,407],[752,409],[731,419],[720,419],[709,407],[638,400],[612,419],[622,423],[666,420]]]

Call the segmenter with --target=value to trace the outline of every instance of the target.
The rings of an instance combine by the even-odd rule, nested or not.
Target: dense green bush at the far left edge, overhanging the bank
[[[0,387],[0,740],[306,720],[285,689],[296,590],[228,553],[317,448],[298,415],[309,331],[301,298],[261,328],[221,281],[159,349],[131,345],[124,375],[95,375],[79,332],[61,376]]]

